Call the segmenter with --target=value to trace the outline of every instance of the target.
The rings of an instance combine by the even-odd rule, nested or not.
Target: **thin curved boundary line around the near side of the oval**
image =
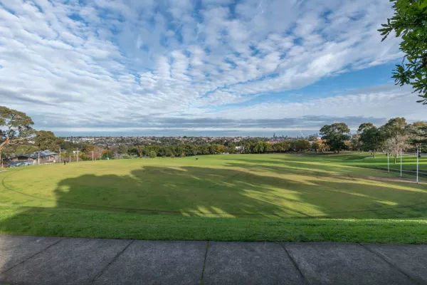
[[[21,170],[19,170],[21,171]],[[27,196],[27,197],[32,197],[34,199],[41,199],[44,201],[49,201],[49,202],[58,202],[56,199],[47,199],[47,198],[42,198],[42,197],[37,197],[37,196],[33,196],[33,195],[29,195],[23,192],[19,192],[17,190],[11,189],[10,187],[6,186],[6,184],[4,184],[4,180],[6,180],[6,177],[8,177],[9,175],[13,174],[9,173],[8,175],[6,175],[5,177],[3,177],[3,179],[1,180],[1,185],[3,185],[3,187],[6,190],[12,191],[12,192],[16,192],[19,193],[21,195]],[[238,173],[239,174],[239,173]],[[238,174],[233,175],[233,177],[236,177]],[[231,177],[231,178],[233,178]],[[219,183],[218,183],[219,184]],[[218,185],[217,184],[217,185]],[[216,185],[212,186],[215,187]],[[97,208],[101,208],[101,209],[120,209],[120,210],[125,210],[125,211],[141,211],[141,212],[159,212],[159,213],[171,213],[171,214],[208,214],[208,215],[233,215],[233,216],[265,216],[265,215],[271,215],[271,216],[276,216],[280,219],[288,219],[285,217],[280,217],[278,216],[278,214],[276,213],[204,213],[204,212],[182,212],[182,211],[167,211],[167,210],[159,210],[159,209],[144,209],[144,208],[122,208],[122,207],[109,207],[109,206],[101,206],[101,205],[97,205],[97,204],[82,204],[82,203],[78,203],[78,202],[68,202],[68,201],[60,201],[61,203],[64,204],[74,204],[74,205],[78,205],[78,206],[83,206],[83,207],[97,207]],[[400,208],[412,208],[412,207],[416,207],[418,205],[421,204],[426,204],[427,201],[423,201],[420,203],[416,203],[416,204],[408,204],[408,205],[404,205],[404,206],[399,206],[399,207],[387,207],[387,208],[376,208],[376,209],[361,209],[361,210],[354,210],[354,211],[339,211],[339,212],[308,212],[308,213],[302,213],[302,214],[306,214],[306,215],[312,215],[312,214],[345,214],[345,213],[359,213],[359,212],[379,212],[379,211],[384,211],[387,209],[400,209]],[[312,217],[312,218],[316,218],[316,217]]]

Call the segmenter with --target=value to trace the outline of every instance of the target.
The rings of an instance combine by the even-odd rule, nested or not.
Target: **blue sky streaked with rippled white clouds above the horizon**
[[[57,135],[295,135],[423,120],[387,0],[3,0],[0,102]]]

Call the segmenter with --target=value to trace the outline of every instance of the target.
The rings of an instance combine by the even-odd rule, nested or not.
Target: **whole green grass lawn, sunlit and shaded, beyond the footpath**
[[[391,160],[391,163],[393,160]],[[427,243],[427,158],[209,155],[0,172],[1,234]],[[399,170],[399,165],[391,165]],[[381,170],[382,169],[382,170]]]

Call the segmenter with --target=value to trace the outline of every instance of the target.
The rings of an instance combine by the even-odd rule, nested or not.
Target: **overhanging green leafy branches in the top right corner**
[[[414,93],[420,93],[418,103],[427,104],[427,1],[391,0],[393,17],[379,31],[384,39],[394,32],[401,37],[404,52],[401,64],[396,65],[393,78],[396,84],[409,84]]]

